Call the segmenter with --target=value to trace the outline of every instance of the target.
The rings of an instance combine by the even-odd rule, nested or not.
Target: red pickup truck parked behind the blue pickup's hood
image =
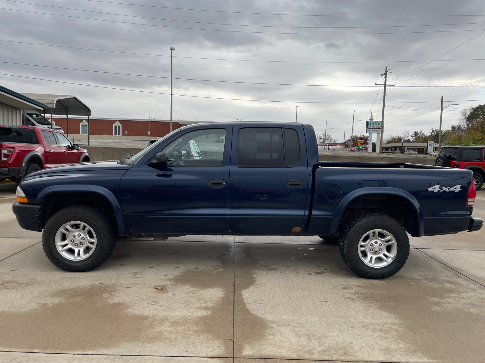
[[[90,161],[86,149],[44,127],[0,125],[0,149],[0,181],[20,182],[37,170]]]

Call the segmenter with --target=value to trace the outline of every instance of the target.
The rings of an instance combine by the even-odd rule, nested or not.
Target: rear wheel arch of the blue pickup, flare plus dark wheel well
[[[388,187],[367,187],[354,190],[353,192],[342,198],[337,210],[335,211],[332,226],[328,234],[334,235],[339,233],[340,227],[346,222],[348,212],[352,209],[352,212],[356,210],[379,210],[379,213],[386,214],[386,210],[389,208],[376,208],[379,203],[374,203],[376,200],[388,200],[402,202],[402,206],[407,212],[402,215],[403,225],[406,231],[413,237],[421,237],[424,235],[424,218],[420,207],[420,204],[410,193],[398,189]],[[374,211],[376,212],[376,211]],[[359,211],[357,213],[363,214]],[[360,215],[358,214],[358,215]],[[389,213],[391,218],[396,219],[393,215],[395,213]]]

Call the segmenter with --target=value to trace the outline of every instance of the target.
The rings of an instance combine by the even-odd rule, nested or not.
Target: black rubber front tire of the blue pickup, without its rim
[[[96,234],[96,247],[89,257],[80,261],[65,258],[56,248],[56,234],[65,223],[79,221],[87,224]],[[44,252],[55,266],[64,271],[84,272],[96,269],[111,256],[116,238],[106,215],[96,208],[85,205],[66,207],[49,218],[42,233]]]

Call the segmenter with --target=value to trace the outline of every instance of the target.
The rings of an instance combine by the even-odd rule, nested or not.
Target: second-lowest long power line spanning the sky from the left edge
[[[6,61],[0,61],[0,63],[5,63],[5,64],[16,64],[16,65],[27,65],[27,66],[32,66],[32,67],[44,67],[44,68],[54,68],[54,69],[65,69],[65,70],[70,70],[70,71],[81,71],[81,72],[93,72],[93,73],[103,73],[103,74],[109,74],[109,75],[119,75],[119,76],[137,76],[137,77],[149,77],[149,78],[164,78],[164,79],[170,79],[170,77],[164,77],[164,76],[148,76],[148,75],[137,75],[137,74],[131,74],[131,73],[118,73],[118,72],[106,72],[106,71],[93,71],[89,69],[79,69],[79,68],[67,68],[67,67],[54,67],[50,65],[39,65],[39,64],[28,64],[28,63],[17,63],[17,62],[6,62]],[[240,82],[240,81],[221,81],[221,80],[214,80],[214,79],[195,79],[195,78],[176,78],[174,77],[173,79],[180,79],[180,80],[186,80],[186,81],[200,81],[200,82],[221,82],[221,83],[240,83],[240,84],[259,84],[259,85],[270,85],[270,86],[314,86],[314,87],[367,87],[367,88],[376,88],[378,86],[360,86],[360,85],[319,85],[319,84],[293,84],[293,83],[264,83],[264,82]],[[396,87],[401,87],[401,88],[426,88],[426,87],[455,87],[456,86],[396,86]],[[484,86],[460,86],[460,87],[485,87]],[[379,88],[380,89],[380,88]],[[476,92],[470,92],[470,93],[476,93]]]

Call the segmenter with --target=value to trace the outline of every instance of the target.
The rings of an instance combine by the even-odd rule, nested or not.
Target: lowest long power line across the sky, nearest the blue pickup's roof
[[[75,82],[56,81],[56,80],[53,80],[53,79],[27,77],[27,76],[17,76],[17,75],[5,74],[5,73],[0,73],[0,75],[2,75],[2,76],[20,77],[20,78],[28,78],[28,79],[36,79],[36,80],[56,82],[56,83],[65,83],[65,84],[72,84],[72,85],[77,85],[77,86],[103,88],[103,89],[109,89],[109,90],[131,91],[131,92],[153,93],[153,94],[167,94],[167,95],[170,94],[170,93],[164,93],[164,92],[130,90],[130,89],[126,89],[126,88],[116,88],[116,87],[96,86],[96,85],[89,85],[89,84],[82,84],[82,83],[75,83]],[[229,100],[229,101],[252,101],[252,102],[274,102],[274,103],[300,103],[300,104],[328,104],[328,105],[339,105],[339,104],[342,104],[342,105],[372,105],[372,102],[309,102],[309,101],[250,100],[250,99],[242,99],[242,98],[194,96],[194,95],[189,95],[189,94],[175,94],[175,93],[174,93],[174,96],[193,97],[193,98],[206,98],[206,99],[214,99],[214,100]],[[455,100],[455,101],[449,101],[449,102],[476,102],[476,101],[485,101],[485,99],[484,100]],[[440,102],[440,101],[388,102],[388,104],[429,104],[429,103],[436,103],[436,102]]]

